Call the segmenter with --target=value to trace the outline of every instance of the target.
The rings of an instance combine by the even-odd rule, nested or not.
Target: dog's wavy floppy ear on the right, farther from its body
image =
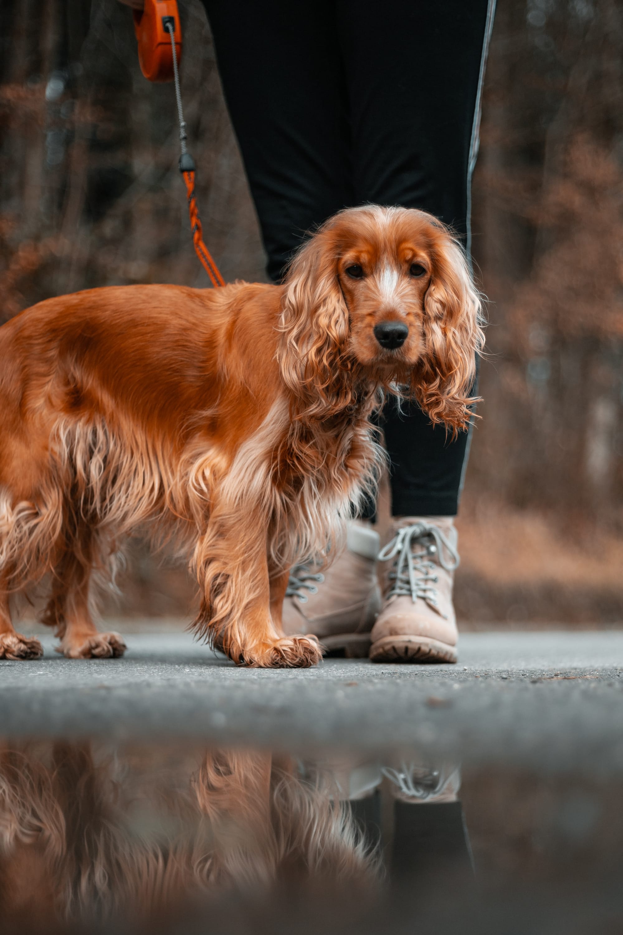
[[[446,424],[456,435],[471,418],[476,356],[485,344],[482,302],[465,252],[445,231],[432,258],[424,299],[426,349],[413,372],[412,391],[431,421]]]

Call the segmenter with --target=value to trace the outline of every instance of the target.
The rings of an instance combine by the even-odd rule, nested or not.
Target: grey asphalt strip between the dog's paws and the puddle
[[[430,755],[623,770],[623,633],[466,634],[456,666],[327,659],[239,669],[190,635],[126,637],[123,659],[0,662],[6,734],[200,737],[271,749],[417,743]]]

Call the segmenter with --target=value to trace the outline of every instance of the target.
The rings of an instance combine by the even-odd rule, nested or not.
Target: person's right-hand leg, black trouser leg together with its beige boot
[[[471,172],[494,0],[338,0],[355,199],[424,209],[470,249]],[[469,433],[449,438],[415,403],[384,412],[393,538],[378,662],[455,662],[456,515]]]

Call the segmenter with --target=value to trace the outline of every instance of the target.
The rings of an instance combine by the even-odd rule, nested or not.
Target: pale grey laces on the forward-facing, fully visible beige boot
[[[380,562],[394,559],[394,566],[388,575],[391,586],[385,597],[406,595],[411,597],[413,604],[421,597],[447,620],[448,615],[437,606],[437,588],[434,585],[439,583],[439,578],[434,573],[437,565],[431,561],[432,556],[436,556],[437,562],[446,571],[458,568],[456,549],[438,526],[414,523],[398,529],[394,539],[379,553]]]

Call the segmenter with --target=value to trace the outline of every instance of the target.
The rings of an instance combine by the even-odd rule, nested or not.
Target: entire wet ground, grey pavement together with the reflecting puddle
[[[623,633],[0,662],[0,929],[618,933]]]

